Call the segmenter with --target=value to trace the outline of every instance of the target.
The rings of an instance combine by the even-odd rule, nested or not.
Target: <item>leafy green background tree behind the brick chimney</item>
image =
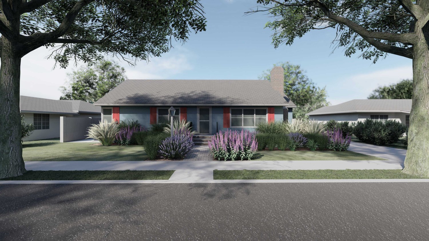
[[[279,62],[274,66],[284,69],[284,91],[296,104],[293,117],[296,119],[308,119],[305,114],[329,104],[326,101],[325,87],[320,89],[311,81],[305,71],[299,65],[290,62]],[[270,80],[270,70],[267,69],[259,76],[260,80]]]

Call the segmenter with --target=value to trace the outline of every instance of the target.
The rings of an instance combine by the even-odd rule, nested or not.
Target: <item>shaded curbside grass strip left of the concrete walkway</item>
[[[48,180],[168,180],[174,171],[27,171],[2,181]]]

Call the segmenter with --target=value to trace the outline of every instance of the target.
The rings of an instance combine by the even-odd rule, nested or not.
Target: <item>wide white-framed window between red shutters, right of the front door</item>
[[[231,127],[255,127],[267,122],[267,108],[231,108]]]

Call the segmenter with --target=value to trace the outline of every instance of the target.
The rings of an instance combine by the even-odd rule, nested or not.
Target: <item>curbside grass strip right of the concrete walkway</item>
[[[416,179],[402,170],[214,170],[214,179]]]

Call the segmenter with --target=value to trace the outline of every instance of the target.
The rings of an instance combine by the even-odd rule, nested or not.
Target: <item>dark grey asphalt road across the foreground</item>
[[[0,185],[0,240],[429,240],[429,184]]]

